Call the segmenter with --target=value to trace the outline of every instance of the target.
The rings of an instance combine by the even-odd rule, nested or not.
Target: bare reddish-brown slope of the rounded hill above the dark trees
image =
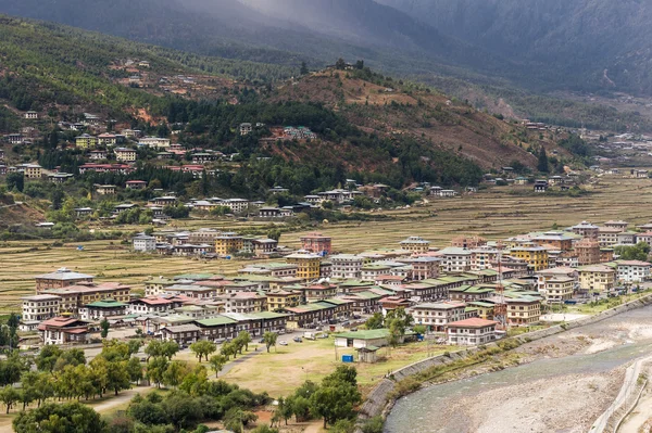
[[[538,133],[528,133],[519,125],[452,102],[446,95],[399,82],[389,85],[393,88],[391,92],[386,91],[387,86],[343,72],[337,76],[330,72],[316,73],[279,89],[272,100],[322,102],[368,132],[430,141],[485,168],[498,168],[512,161],[535,167],[536,157],[526,151],[530,144],[542,144],[549,152],[557,150],[570,157],[548,133],[540,140]]]

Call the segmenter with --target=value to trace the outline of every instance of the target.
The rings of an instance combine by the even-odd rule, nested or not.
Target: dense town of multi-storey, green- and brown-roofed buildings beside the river
[[[355,360],[373,362],[392,335],[364,329],[365,322],[402,309],[412,320],[393,335],[401,342],[482,345],[512,329],[563,321],[543,319],[569,306],[645,290],[652,265],[619,259],[615,251],[649,245],[652,225],[629,229],[620,220],[581,221],[500,242],[462,235],[442,249],[415,235],[356,254],[333,251],[331,239],[316,232],[302,237],[296,251],[235,232],[153,232],[134,238],[134,250],[167,254],[201,243],[220,256],[246,250],[264,260],[242,260],[236,275],[152,276],[143,291],[63,267],[35,277],[35,294],[22,300],[21,330],[25,344],[36,345],[99,342],[102,321],[123,338],[147,335],[181,347],[222,344],[241,331],[255,339],[292,333],[293,342],[330,335],[336,346],[354,347]],[[280,258],[266,258],[272,254]]]

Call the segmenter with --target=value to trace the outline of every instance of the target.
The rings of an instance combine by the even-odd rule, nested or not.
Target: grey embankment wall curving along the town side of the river
[[[616,315],[619,315],[625,311],[629,311],[632,309],[644,307],[645,305],[652,304],[652,295],[647,295],[641,297],[640,300],[632,301],[627,304],[619,305],[615,308],[607,309],[605,311],[599,313],[594,316],[590,316],[587,318],[574,320],[568,323],[557,324],[554,327],[550,327],[547,329],[542,329],[539,331],[528,332],[526,334],[522,334],[516,336],[521,343],[527,343],[530,341],[541,340],[547,336],[555,335],[561,332],[577,329],[581,327],[586,327],[588,324],[597,323],[602,320],[609,319]],[[496,343],[486,344],[485,347],[494,346]],[[362,405],[360,412],[358,413],[359,423],[364,422],[365,420],[377,417],[377,416],[387,416],[394,402],[389,399],[389,395],[394,390],[396,383],[406,379],[411,375],[417,374],[424,370],[427,370],[434,366],[442,366],[455,361],[457,359],[462,359],[478,352],[478,347],[469,347],[463,351],[453,352],[449,355],[439,355],[432,358],[424,359],[422,361],[414,362],[410,366],[403,367],[392,373],[392,378],[384,379],[367,396],[367,399]],[[356,430],[356,433],[360,433],[361,429]]]

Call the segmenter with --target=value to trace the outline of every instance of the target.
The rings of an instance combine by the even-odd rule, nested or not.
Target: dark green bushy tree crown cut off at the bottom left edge
[[[21,412],[13,420],[16,433],[102,433],[105,428],[98,412],[77,402],[46,404]]]

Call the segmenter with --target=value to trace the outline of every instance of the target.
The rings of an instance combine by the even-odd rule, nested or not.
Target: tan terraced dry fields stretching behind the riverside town
[[[532,230],[566,227],[581,220],[599,224],[625,219],[631,224],[652,220],[652,180],[602,177],[580,198],[515,195],[511,188],[494,188],[457,199],[431,199],[424,207],[387,212],[391,219],[371,222],[324,224],[318,231],[331,235],[334,249],[358,253],[369,249],[394,247],[409,235],[422,235],[434,246],[447,246],[457,234],[480,234],[497,240]],[[261,222],[179,221],[176,229],[213,227],[238,230]],[[285,233],[281,244],[297,246],[302,232]],[[34,291],[34,276],[67,267],[98,277],[98,281],[121,281],[141,288],[149,276],[187,272],[233,273],[243,262],[201,262],[184,257],[158,257],[129,252],[118,242],[95,241],[50,246],[52,241],[0,244],[0,313],[16,310],[20,297]]]

